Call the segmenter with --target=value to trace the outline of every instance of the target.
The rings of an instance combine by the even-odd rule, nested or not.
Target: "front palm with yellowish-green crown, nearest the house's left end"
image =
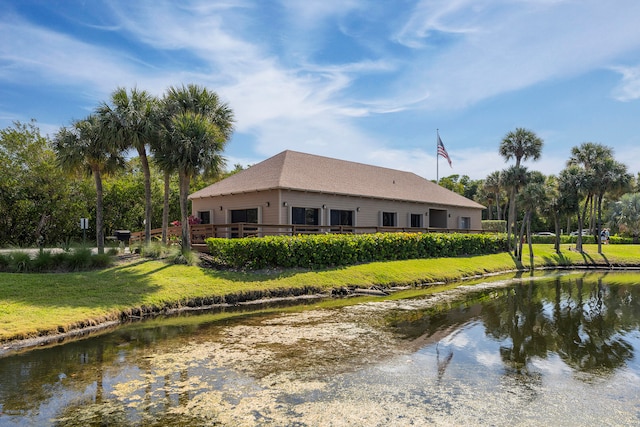
[[[199,174],[217,173],[224,165],[220,155],[226,140],[218,127],[202,114],[187,111],[171,119],[166,140],[173,147],[166,161],[174,165],[180,181],[180,215],[182,250],[191,250],[188,195],[191,178]]]

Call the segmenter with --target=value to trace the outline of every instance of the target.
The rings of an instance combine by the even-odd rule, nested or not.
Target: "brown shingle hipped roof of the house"
[[[283,151],[189,196],[190,199],[289,189],[483,209],[414,173]]]

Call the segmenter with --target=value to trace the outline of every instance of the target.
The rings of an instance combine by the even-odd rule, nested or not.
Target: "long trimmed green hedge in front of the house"
[[[372,261],[481,255],[506,250],[504,235],[444,233],[312,234],[206,240],[232,268],[323,268]]]

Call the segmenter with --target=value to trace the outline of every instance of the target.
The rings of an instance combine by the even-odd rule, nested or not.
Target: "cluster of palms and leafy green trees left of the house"
[[[149,242],[152,224],[157,224],[153,195],[160,174],[162,240],[166,242],[169,218],[175,214],[172,195],[177,193],[182,248],[189,250],[187,196],[194,179],[223,173],[222,153],[233,123],[231,108],[215,92],[197,85],[170,87],[160,98],[136,88],[118,88],[108,102],[62,127],[52,139],[40,135],[34,122],[15,123],[0,133],[0,244],[58,243],[77,236],[78,214],[92,214],[98,251],[103,253],[105,199],[115,198],[117,190],[130,191],[131,200],[119,200],[123,203],[116,210],[124,216],[127,207],[134,215],[140,213],[138,188],[126,180],[110,183],[111,191],[105,194],[105,177],[110,176],[135,177],[135,182],[141,178],[141,217]],[[127,160],[131,152],[137,157]],[[91,190],[81,176],[91,177]],[[93,198],[93,208],[88,198]],[[120,228],[135,225],[124,218],[113,221]]]

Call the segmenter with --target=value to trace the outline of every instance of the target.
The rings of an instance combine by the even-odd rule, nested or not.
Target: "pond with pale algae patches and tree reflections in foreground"
[[[0,358],[0,425],[639,425],[640,275],[133,323]]]

